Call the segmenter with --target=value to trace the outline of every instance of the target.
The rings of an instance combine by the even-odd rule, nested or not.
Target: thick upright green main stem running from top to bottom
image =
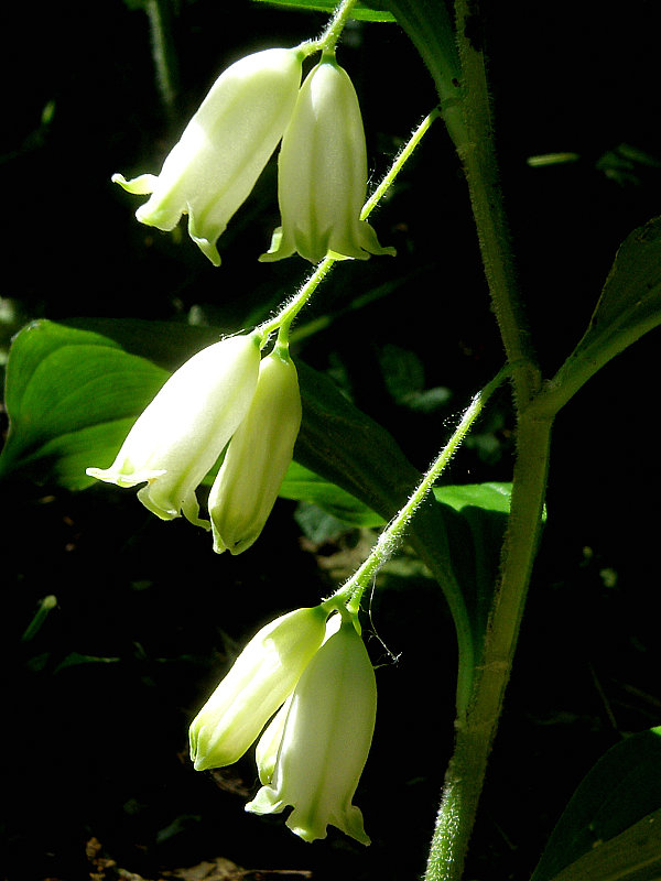
[[[527,415],[541,377],[517,290],[484,56],[481,47],[468,36],[475,33],[475,28],[468,28],[475,3],[456,0],[455,9],[466,131],[456,146],[468,184],[491,306],[508,361],[513,367],[517,459],[499,580],[484,645],[478,652],[473,696],[467,713],[456,721],[455,750],[445,776],[425,881],[459,881],[463,874],[537,553],[552,425],[552,415],[541,420]]]

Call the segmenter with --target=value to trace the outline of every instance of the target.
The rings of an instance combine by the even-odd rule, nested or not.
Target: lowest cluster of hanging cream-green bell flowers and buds
[[[299,609],[253,637],[191,725],[191,758],[198,771],[230,764],[267,726],[256,749],[263,785],[246,811],[292,807],[286,825],[306,841],[333,825],[368,845],[351,802],[373,733],[375,673],[357,623],[327,616],[323,605]]]

